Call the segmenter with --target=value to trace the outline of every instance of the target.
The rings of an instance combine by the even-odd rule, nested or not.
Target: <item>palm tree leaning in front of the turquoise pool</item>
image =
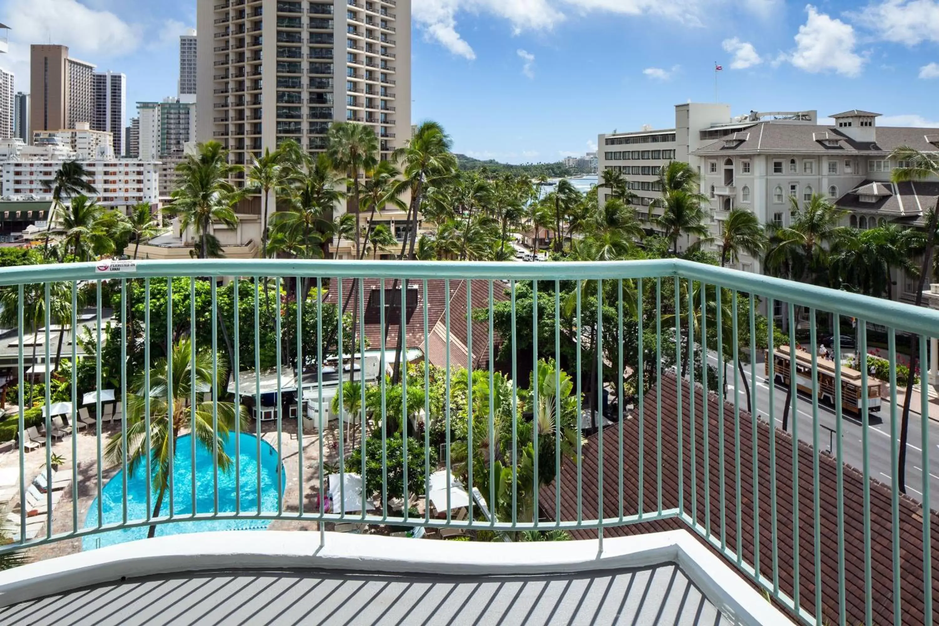
[[[224,387],[223,372],[226,369],[223,359],[219,358],[218,377],[213,379],[213,356],[208,351],[200,350],[195,352],[193,358],[192,353],[190,339],[181,338],[173,345],[170,354],[172,379],[168,375],[166,359],[154,363],[149,372],[149,386],[145,384],[145,373],[134,375],[132,389],[136,390],[127,397],[127,450],[124,449],[123,435],[119,432],[111,435],[104,448],[105,459],[111,465],[126,461],[130,475],[141,466],[151,473],[157,494],[153,517],[160,516],[163,496],[169,486],[170,450],[177,450],[179,435],[188,432],[207,450],[212,450],[214,463],[220,471],[227,472],[232,465],[231,458],[224,451],[228,432],[234,428],[235,420],[247,423],[247,411],[241,405],[229,402],[219,402],[214,406],[212,402],[190,405],[193,382],[197,397],[213,390],[218,394],[219,389]],[[149,433],[146,431],[145,419],[147,396],[150,406]],[[167,398],[172,398],[172,420]],[[212,424],[215,406],[217,430]],[[157,527],[153,525],[146,536],[151,538],[156,531]]]

